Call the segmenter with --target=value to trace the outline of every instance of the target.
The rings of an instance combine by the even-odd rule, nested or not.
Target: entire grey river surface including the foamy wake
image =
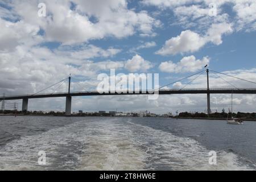
[[[255,170],[255,131],[256,122],[1,116],[0,169]]]

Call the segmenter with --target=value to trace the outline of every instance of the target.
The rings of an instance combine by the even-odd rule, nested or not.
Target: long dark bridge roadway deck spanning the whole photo
[[[256,88],[211,88],[211,89],[160,89],[159,94],[256,94]],[[134,91],[132,93],[99,93],[97,91],[90,92],[71,92],[71,93],[52,93],[52,94],[34,94],[20,96],[5,96],[0,97],[0,101],[5,100],[20,100],[28,98],[48,98],[48,97],[74,97],[74,96],[113,96],[113,95],[134,95],[134,94],[154,94],[150,91]]]

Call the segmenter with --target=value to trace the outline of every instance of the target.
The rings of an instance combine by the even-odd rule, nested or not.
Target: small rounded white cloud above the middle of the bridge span
[[[125,68],[130,72],[147,71],[152,67],[150,61],[144,60],[139,55],[133,56],[132,59],[127,60],[125,63]]]

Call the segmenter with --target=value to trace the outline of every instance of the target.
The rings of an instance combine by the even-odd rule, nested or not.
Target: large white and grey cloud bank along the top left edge
[[[124,38],[138,34],[153,35],[160,21],[146,11],[135,12],[127,2],[102,1],[44,1],[46,17],[38,17],[38,1],[13,1],[13,14],[44,31],[48,41],[76,44],[108,36]],[[94,20],[92,20],[94,19]]]

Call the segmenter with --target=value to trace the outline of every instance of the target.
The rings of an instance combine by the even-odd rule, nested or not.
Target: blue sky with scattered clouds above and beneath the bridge
[[[45,5],[39,6],[40,3]],[[69,74],[72,92],[95,90],[100,73],[159,73],[164,86],[204,70],[256,81],[254,0],[73,0],[0,2],[0,94],[33,94]],[[165,88],[206,88],[206,73]],[[223,79],[224,78],[224,79]],[[255,84],[210,73],[210,88]],[[67,92],[61,82],[44,93]],[[17,102],[6,101],[6,109]],[[234,111],[255,111],[254,95],[234,95]],[[212,111],[230,95],[212,94]],[[205,112],[207,96],[73,97],[72,110]],[[29,100],[28,110],[64,111],[65,98]]]

